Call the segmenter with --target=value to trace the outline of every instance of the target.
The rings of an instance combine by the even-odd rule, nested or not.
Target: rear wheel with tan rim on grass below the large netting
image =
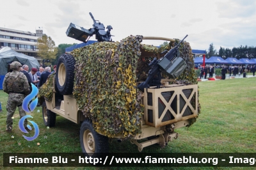
[[[91,120],[84,120],[80,128],[80,144],[85,157],[100,157],[108,153],[108,137],[93,129]]]

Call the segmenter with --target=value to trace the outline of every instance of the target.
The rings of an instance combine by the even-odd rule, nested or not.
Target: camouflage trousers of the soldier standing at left
[[[24,99],[24,95],[19,94],[19,93],[10,93],[6,105],[6,110],[7,110],[7,119],[6,119],[6,127],[7,128],[12,128],[13,124],[13,114],[16,110],[16,108],[19,108],[19,113],[20,113],[20,118],[23,116],[26,116],[26,112],[22,109],[22,102]],[[24,121],[24,127],[27,127],[28,121],[27,119]]]

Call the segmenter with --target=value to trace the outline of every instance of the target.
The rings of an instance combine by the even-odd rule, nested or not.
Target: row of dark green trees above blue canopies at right
[[[256,47],[248,47],[247,45],[245,46],[240,46],[240,47],[233,47],[233,49],[228,49],[228,48],[223,48],[220,47],[220,50],[217,51],[214,49],[213,43],[209,45],[209,49],[207,50],[206,57],[211,58],[211,56],[219,56],[223,59],[227,58],[236,58],[236,59],[241,59],[241,58],[256,58]]]

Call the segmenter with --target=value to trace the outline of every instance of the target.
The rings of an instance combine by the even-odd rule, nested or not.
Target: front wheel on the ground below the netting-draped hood
[[[56,114],[47,109],[45,102],[42,104],[42,115],[45,127],[55,126]]]

